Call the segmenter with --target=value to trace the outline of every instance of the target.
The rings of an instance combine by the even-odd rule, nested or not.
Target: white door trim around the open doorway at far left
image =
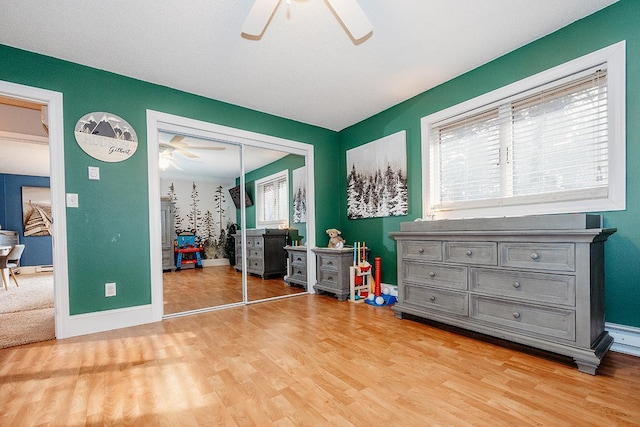
[[[49,164],[56,338],[71,336],[69,324],[69,270],[67,260],[67,211],[64,181],[64,120],[62,93],[0,81],[0,95],[46,104],[49,115]]]

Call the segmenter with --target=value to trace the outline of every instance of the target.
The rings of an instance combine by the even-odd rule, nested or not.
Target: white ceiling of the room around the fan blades
[[[342,130],[616,0],[360,0],[354,44],[325,0],[3,0],[0,43]]]

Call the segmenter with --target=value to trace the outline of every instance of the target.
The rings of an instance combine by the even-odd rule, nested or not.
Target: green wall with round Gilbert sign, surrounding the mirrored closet
[[[318,164],[338,155],[333,131],[2,45],[0,80],[63,94],[66,191],[78,193],[80,204],[67,209],[72,315],[151,302],[147,109],[312,144]],[[130,159],[104,163],[76,143],[77,120],[101,111],[135,129],[139,146]],[[87,179],[88,166],[100,167],[100,181]],[[329,208],[339,203],[334,179],[330,170],[317,172],[316,194],[329,201],[316,209],[318,230],[339,221]],[[117,283],[117,296],[104,297],[105,282]]]

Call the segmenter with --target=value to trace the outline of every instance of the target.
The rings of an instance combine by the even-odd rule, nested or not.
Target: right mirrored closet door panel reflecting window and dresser
[[[244,150],[245,186],[253,202],[246,208],[247,300],[304,293],[305,157],[252,146]],[[252,167],[251,158],[271,161]]]

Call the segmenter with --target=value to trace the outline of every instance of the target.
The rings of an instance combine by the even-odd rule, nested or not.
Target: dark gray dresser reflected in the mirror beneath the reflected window
[[[284,277],[287,274],[287,230],[277,228],[254,228],[246,230],[247,273],[257,274],[263,279]],[[242,234],[234,234],[236,242],[235,269],[241,271]]]

